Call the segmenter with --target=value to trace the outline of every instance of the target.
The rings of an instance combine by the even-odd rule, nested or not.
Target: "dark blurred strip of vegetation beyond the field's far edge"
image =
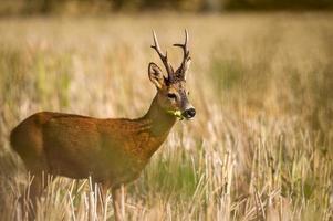
[[[100,14],[153,10],[178,12],[330,10],[332,7],[332,0],[2,0],[0,14]]]

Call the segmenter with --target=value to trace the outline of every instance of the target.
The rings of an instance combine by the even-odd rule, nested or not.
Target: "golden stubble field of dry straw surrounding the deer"
[[[152,29],[173,63],[190,34],[194,120],[126,189],[127,220],[333,219],[333,14],[1,18],[0,220],[27,220],[31,178],[8,136],[39,110],[142,116]],[[38,220],[113,220],[87,180],[56,178]],[[96,192],[96,191],[95,191]]]

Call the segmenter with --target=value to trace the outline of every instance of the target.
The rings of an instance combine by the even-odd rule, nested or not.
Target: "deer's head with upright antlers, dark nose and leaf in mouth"
[[[183,62],[176,71],[174,71],[168,61],[167,52],[163,54],[154,31],[153,38],[154,45],[152,48],[159,55],[167,74],[165,75],[154,62],[149,63],[148,75],[157,88],[157,103],[165,112],[179,118],[192,118],[196,115],[196,109],[189,103],[187,98],[188,91],[186,90],[186,74],[190,64],[187,30],[185,30],[185,43],[174,44],[174,46],[179,46],[184,52]]]

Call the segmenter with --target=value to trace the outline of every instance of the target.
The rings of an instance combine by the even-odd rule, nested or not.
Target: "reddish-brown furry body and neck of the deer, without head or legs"
[[[118,186],[138,177],[176,122],[158,108],[155,99],[138,119],[37,113],[12,130],[10,140],[32,172],[75,179],[93,176]]]

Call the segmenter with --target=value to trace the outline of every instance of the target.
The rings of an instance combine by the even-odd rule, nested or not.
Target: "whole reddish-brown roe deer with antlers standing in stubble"
[[[195,108],[188,102],[185,76],[189,69],[188,33],[180,46],[184,56],[174,71],[153,31],[152,48],[159,55],[167,76],[149,63],[148,76],[157,93],[148,112],[137,119],[93,118],[73,114],[41,112],[20,123],[11,133],[12,148],[34,176],[31,200],[43,190],[45,175],[74,179],[92,177],[102,196],[112,189],[115,220],[123,220],[121,186],[135,180],[152,155],[167,138],[177,118],[191,118]]]

